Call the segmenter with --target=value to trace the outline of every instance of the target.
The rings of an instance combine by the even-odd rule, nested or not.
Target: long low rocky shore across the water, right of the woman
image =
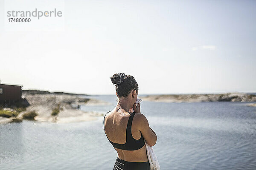
[[[181,95],[148,95],[145,101],[152,102],[256,102],[252,94],[181,94]]]

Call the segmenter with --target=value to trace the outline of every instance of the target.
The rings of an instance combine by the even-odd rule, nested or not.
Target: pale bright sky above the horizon
[[[2,84],[115,94],[110,77],[123,72],[139,94],[256,92],[254,0],[40,2],[0,0]],[[7,23],[24,6],[63,16]]]

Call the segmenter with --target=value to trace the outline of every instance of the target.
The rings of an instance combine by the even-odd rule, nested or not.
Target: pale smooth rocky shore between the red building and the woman
[[[28,100],[30,106],[26,108],[26,111],[21,112],[17,116],[18,118],[22,118],[23,114],[27,112],[35,111],[38,114],[38,116],[35,116],[35,120],[57,123],[82,122],[98,119],[103,113],[84,112],[76,109],[75,106],[110,104],[97,99],[88,99],[79,95],[68,94],[24,94],[23,97]],[[58,105],[60,105],[63,110],[61,110],[55,118],[51,116],[51,113]]]

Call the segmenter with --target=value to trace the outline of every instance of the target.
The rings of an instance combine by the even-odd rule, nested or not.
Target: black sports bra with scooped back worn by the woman
[[[110,111],[109,111],[110,112]],[[105,114],[105,116],[107,115],[108,113]],[[134,117],[134,114],[135,112],[131,113],[131,116],[129,117],[129,120],[128,120],[128,124],[127,124],[127,127],[126,127],[126,142],[125,144],[118,144],[118,143],[114,143],[114,142],[111,142],[109,139],[109,142],[113,145],[113,147],[117,148],[117,149],[122,149],[122,150],[138,150],[140,148],[142,148],[144,146],[144,138],[141,134],[140,136],[140,139],[134,139],[131,135],[131,123],[132,123],[132,120],[133,120],[133,117]],[[104,127],[104,131],[105,131],[105,116],[104,116],[104,119],[103,119],[103,127]],[[105,134],[107,136],[107,133],[105,131]],[[107,136],[108,138],[108,136]]]

